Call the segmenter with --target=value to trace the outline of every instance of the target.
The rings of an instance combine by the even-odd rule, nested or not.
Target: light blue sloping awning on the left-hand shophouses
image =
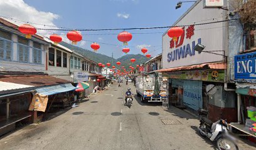
[[[36,91],[42,95],[53,95],[58,93],[64,93],[67,91],[73,91],[75,88],[72,86],[71,83],[65,83],[65,84],[57,84],[54,86],[45,86],[41,88],[37,88]]]

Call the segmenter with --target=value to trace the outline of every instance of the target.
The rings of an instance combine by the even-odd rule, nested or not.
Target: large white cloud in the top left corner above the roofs
[[[53,24],[53,21],[55,19],[58,19],[58,14],[54,14],[52,12],[44,12],[44,11],[38,11],[36,8],[33,8],[32,6],[29,6],[26,4],[23,0],[4,0],[0,1],[0,10],[1,10],[1,16],[11,17],[13,19],[18,19],[20,21],[14,22],[15,24],[24,24],[26,21],[29,22],[29,24],[38,27],[38,28],[51,28],[51,29],[57,29],[55,24]],[[36,24],[33,24],[33,23]],[[49,26],[42,26],[38,24],[45,24],[50,25]],[[50,31],[44,31],[44,30],[38,30],[38,34],[52,34],[53,32]]]

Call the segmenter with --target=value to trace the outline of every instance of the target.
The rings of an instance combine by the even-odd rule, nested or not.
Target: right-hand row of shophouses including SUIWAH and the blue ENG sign
[[[227,119],[249,132],[244,125],[247,107],[256,107],[256,24],[234,21],[239,16],[228,8],[204,8],[203,1],[195,2],[173,24],[192,25],[183,27],[176,42],[166,31],[162,53],[147,61],[144,71],[169,77],[173,106],[194,113],[205,109],[211,121]],[[193,25],[213,21],[219,22]]]

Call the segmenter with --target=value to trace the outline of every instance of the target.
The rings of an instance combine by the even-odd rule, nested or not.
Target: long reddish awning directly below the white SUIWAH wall
[[[172,72],[172,71],[184,71],[193,69],[227,69],[226,63],[208,63],[208,64],[196,64],[191,66],[182,66],[177,68],[160,69],[157,72]]]

